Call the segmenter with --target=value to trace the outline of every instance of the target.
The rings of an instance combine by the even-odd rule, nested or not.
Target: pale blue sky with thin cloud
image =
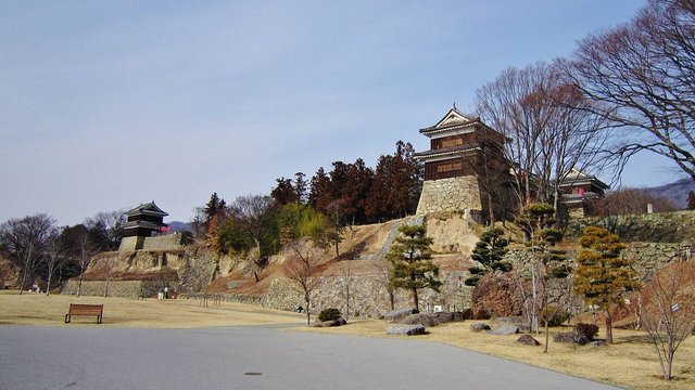
[[[0,222],[75,224],[155,203],[188,221],[213,192],[362,157],[507,67],[569,55],[644,1],[2,1]],[[635,159],[624,185],[677,180]]]

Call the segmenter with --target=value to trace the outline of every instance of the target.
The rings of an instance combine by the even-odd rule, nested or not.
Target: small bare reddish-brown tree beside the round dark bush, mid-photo
[[[292,247],[294,258],[288,260],[285,264],[285,273],[293,281],[298,287],[298,290],[304,296],[304,302],[306,303],[306,325],[311,324],[311,306],[312,306],[312,292],[318,286],[320,280],[318,278],[317,259],[313,253],[311,246],[306,246],[304,250],[299,244]]]

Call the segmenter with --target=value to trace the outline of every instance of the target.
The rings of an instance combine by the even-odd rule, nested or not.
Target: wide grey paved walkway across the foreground
[[[0,326],[0,389],[610,389],[437,342],[274,327]]]

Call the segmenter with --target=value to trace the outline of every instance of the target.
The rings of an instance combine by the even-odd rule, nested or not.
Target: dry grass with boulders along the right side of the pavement
[[[444,342],[631,389],[695,388],[695,337],[688,338],[678,350],[673,370],[675,379],[669,382],[660,378],[661,368],[654,347],[643,332],[614,329],[615,343],[607,347],[555,343],[551,335],[548,352],[543,353],[542,346],[527,347],[517,343],[518,335],[475,334],[469,328],[471,323],[467,321],[430,327],[429,335],[418,336],[415,339]],[[307,328],[307,330],[368,337],[396,337],[386,336],[383,321],[358,321],[342,327]],[[555,332],[567,330],[555,329]],[[544,334],[534,335],[541,343],[544,342]]]

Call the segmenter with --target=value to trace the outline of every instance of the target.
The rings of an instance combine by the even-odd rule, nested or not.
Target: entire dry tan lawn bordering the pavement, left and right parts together
[[[96,324],[93,317],[74,317],[64,324],[64,315],[71,302],[103,303],[104,323]],[[300,324],[305,316],[291,312],[260,307],[222,302],[201,308],[195,300],[138,301],[124,298],[100,298],[25,292],[0,291],[1,325],[50,325],[50,326],[105,326],[105,327],[155,327],[194,328],[232,325]],[[688,338],[675,354],[670,382],[660,379],[660,367],[647,336],[642,332],[615,329],[615,344],[608,347],[573,347],[554,343],[543,353],[543,347],[527,347],[516,343],[518,336],[492,336],[475,334],[472,322],[444,324],[430,327],[429,335],[410,339],[443,342],[553,370],[616,384],[633,389],[695,389],[695,337]],[[386,335],[383,321],[354,321],[337,328],[298,327],[305,332],[366,337],[394,337]],[[552,332],[565,332],[557,328]],[[604,335],[601,328],[599,336]],[[543,342],[543,335],[535,335]],[[465,370],[462,367],[462,370]]]

